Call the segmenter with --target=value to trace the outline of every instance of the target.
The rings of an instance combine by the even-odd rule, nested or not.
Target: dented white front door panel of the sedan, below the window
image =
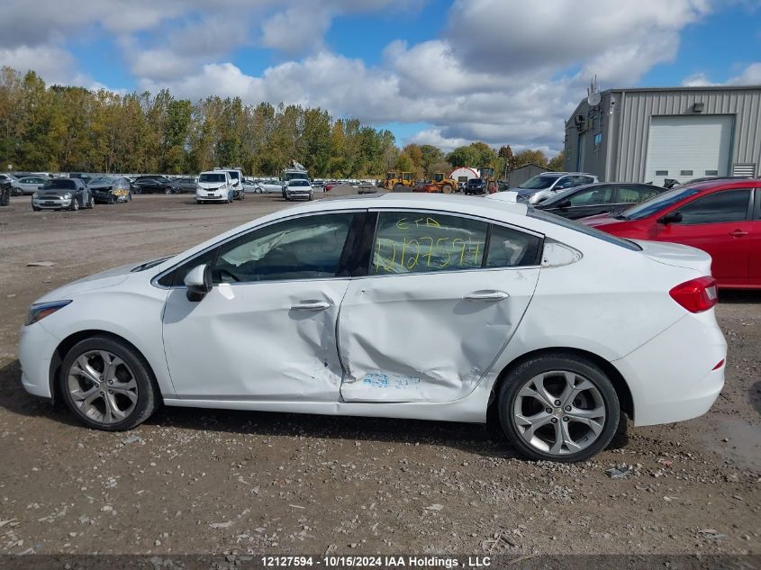
[[[180,397],[332,401],[336,319],[348,280],[218,285],[200,303],[169,294],[164,343]],[[299,303],[324,310],[294,310]]]

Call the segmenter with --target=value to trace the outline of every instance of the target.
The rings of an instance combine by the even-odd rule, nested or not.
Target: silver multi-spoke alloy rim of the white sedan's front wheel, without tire
[[[130,366],[107,350],[88,350],[68,369],[68,392],[79,412],[93,421],[124,420],[138,402],[138,383]]]

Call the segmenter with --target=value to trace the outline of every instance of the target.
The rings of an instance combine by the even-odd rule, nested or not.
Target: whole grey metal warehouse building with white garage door
[[[611,89],[566,122],[564,168],[606,181],[761,176],[761,86]]]

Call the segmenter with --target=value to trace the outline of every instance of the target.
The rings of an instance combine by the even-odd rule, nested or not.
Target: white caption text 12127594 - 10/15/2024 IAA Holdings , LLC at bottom
[[[266,568],[323,566],[326,568],[476,568],[492,564],[489,556],[262,556]]]

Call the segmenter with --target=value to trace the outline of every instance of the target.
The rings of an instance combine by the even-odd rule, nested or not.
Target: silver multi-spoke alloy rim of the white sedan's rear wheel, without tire
[[[521,386],[512,418],[521,438],[532,448],[562,456],[592,445],[606,417],[600,390],[584,375],[552,370]]]

